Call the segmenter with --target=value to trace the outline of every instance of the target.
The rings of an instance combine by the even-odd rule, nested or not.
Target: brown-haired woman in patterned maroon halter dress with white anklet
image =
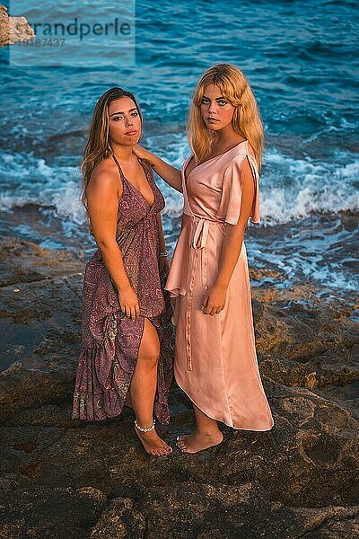
[[[169,455],[154,429],[168,423],[172,360],[160,273],[167,259],[153,172],[134,153],[142,131],[136,98],[111,88],[97,102],[85,146],[83,203],[99,249],[83,281],[83,346],[73,418],[104,420],[124,404],[136,413],[145,451]]]

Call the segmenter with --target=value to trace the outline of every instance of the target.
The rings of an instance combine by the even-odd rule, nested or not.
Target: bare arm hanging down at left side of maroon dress
[[[118,216],[118,176],[110,172],[95,172],[86,191],[92,232],[98,244],[109,276],[118,289],[119,304],[123,313],[132,320],[139,315],[135,290],[131,287],[116,242]]]

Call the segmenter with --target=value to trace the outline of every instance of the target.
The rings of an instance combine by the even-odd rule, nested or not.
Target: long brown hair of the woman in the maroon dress
[[[114,87],[101,95],[101,98],[96,103],[92,113],[92,121],[89,128],[89,135],[86,145],[83,150],[83,161],[81,163],[81,172],[83,176],[82,196],[83,206],[87,208],[86,189],[89,184],[92,172],[102,159],[112,155],[112,148],[109,139],[109,103],[120,99],[121,97],[129,97],[136,105],[138,114],[143,122],[143,117],[136,97],[133,93],[122,90],[122,88]]]

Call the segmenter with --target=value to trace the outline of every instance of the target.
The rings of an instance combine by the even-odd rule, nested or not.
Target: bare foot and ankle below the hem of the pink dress
[[[196,416],[196,430],[193,434],[179,436],[177,441],[177,446],[183,453],[197,453],[208,447],[218,446],[223,440],[217,421],[206,416],[196,404],[193,404],[193,409]]]

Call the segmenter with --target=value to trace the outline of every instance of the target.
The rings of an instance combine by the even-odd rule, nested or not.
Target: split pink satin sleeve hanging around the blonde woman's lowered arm
[[[224,171],[222,198],[217,216],[229,225],[237,225],[241,214],[241,193],[242,193],[242,164],[244,159],[248,159],[250,170],[254,181],[254,199],[250,210],[250,219],[253,223],[260,221],[259,208],[259,173],[256,160],[253,155],[237,155],[232,163]]]

